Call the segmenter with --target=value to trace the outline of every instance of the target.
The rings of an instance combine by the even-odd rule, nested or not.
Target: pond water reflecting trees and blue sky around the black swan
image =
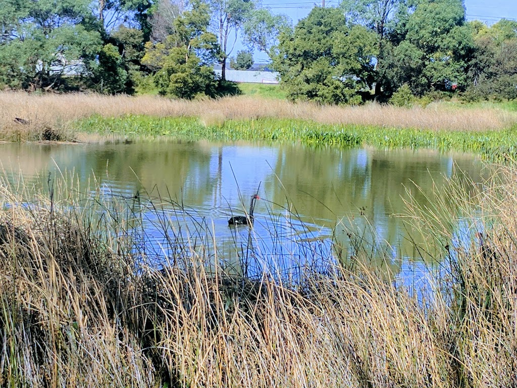
[[[391,258],[379,265],[412,271],[422,263],[412,241],[422,237],[392,214],[404,212],[409,194],[428,205],[425,193],[454,171],[482,180],[482,165],[472,155],[429,151],[142,142],[0,144],[0,155],[3,173],[23,177],[25,185],[46,185],[49,172],[73,171],[84,187],[95,176],[104,195],[138,199],[147,235],[141,245],[149,255],[167,257],[177,245],[171,236],[203,231],[204,240],[195,244],[215,242],[210,255],[248,273],[261,265],[288,272],[293,261],[324,271],[321,258],[331,255],[330,241],[349,260],[358,236],[373,256]],[[259,185],[263,199],[253,230],[229,228],[227,219],[248,210]],[[162,211],[156,213],[149,199],[159,199]]]

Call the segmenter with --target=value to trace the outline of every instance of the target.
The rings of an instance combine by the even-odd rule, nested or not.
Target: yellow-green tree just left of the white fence
[[[217,81],[212,66],[220,55],[217,37],[207,31],[210,14],[206,4],[193,2],[174,21],[174,33],[164,42],[146,43],[142,63],[157,70],[155,84],[162,95],[194,98],[215,96]]]

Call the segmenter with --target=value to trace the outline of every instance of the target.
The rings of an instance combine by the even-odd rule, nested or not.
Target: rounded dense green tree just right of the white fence
[[[273,66],[292,100],[356,103],[360,89],[372,81],[374,33],[348,27],[339,9],[314,8],[279,40]]]

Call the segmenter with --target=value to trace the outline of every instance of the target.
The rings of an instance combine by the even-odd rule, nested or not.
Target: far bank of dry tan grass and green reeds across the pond
[[[16,117],[26,120],[26,124],[14,121]],[[516,122],[517,113],[511,110],[473,110],[446,103],[406,109],[374,103],[360,107],[317,106],[249,96],[174,101],[152,96],[0,93],[0,139],[7,141],[73,140],[78,131],[92,130],[179,137],[189,132],[178,128],[180,123],[186,123],[196,133],[233,132],[230,136],[223,132],[211,135],[220,139],[305,141],[306,136],[311,137],[306,132],[311,132],[324,144],[346,132],[345,137],[352,136],[354,142],[377,146],[451,147],[477,152],[484,150],[488,142],[491,150],[503,148],[499,153],[511,154],[511,129]],[[247,125],[254,129],[246,130]],[[299,131],[300,137],[288,133],[299,125],[307,129]]]

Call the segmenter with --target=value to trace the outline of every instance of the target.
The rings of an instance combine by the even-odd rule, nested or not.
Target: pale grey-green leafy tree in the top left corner
[[[0,81],[11,87],[57,88],[101,47],[89,29],[88,0],[23,2],[0,7]]]

